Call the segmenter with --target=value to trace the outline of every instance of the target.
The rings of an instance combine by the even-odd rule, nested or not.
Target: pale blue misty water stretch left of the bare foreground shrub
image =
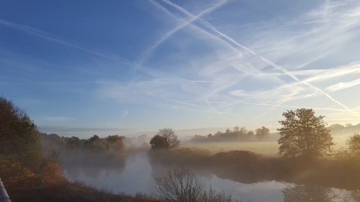
[[[150,193],[151,166],[146,153],[131,155],[126,164],[107,167],[94,165],[63,165],[63,175],[70,181],[79,180],[114,193]]]

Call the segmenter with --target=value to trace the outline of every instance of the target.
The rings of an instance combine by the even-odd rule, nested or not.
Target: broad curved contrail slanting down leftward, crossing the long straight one
[[[149,0],[152,4],[155,4],[153,2],[153,0]],[[154,43],[153,45],[151,45],[143,54],[140,62],[138,63],[138,65],[135,67],[135,69],[137,69],[139,66],[141,66],[141,64],[143,62],[145,62],[148,57],[154,52],[154,50],[161,44],[163,43],[166,39],[170,38],[171,36],[173,36],[176,32],[178,32],[179,30],[183,29],[184,27],[188,26],[188,24],[190,24],[191,22],[199,19],[200,17],[202,17],[205,14],[208,14],[212,11],[214,11],[215,9],[223,6],[224,4],[227,3],[227,0],[222,0],[220,1],[218,4],[215,4],[214,6],[200,12],[198,15],[192,15],[189,16],[190,19],[184,21],[183,23],[179,24],[179,26],[177,26],[176,28],[170,30],[169,32],[167,32],[160,40],[156,41],[156,43]]]

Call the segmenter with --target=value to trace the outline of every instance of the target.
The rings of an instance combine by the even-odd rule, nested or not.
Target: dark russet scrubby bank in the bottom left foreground
[[[146,195],[135,196],[99,190],[82,182],[68,182],[59,167],[43,158],[38,172],[21,167],[10,156],[0,156],[0,177],[13,202],[22,201],[161,201]]]

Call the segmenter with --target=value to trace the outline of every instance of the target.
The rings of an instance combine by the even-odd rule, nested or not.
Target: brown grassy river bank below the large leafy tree
[[[348,190],[360,188],[360,163],[339,159],[283,159],[243,150],[211,154],[200,148],[153,150],[149,156],[153,163],[188,165],[246,184],[275,180]]]

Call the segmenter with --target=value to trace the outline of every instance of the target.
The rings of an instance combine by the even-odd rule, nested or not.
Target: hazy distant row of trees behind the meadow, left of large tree
[[[231,131],[227,129],[224,133],[218,131],[214,135],[207,136],[195,135],[191,138],[192,142],[220,142],[220,141],[247,141],[247,140],[265,140],[270,138],[270,130],[266,127],[261,127],[254,131],[247,131],[245,127],[234,127]]]

